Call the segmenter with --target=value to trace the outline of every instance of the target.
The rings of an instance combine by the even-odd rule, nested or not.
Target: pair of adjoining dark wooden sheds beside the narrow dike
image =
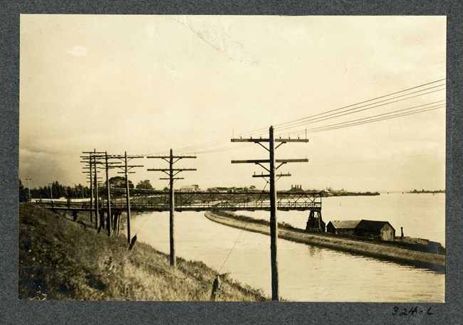
[[[326,226],[326,231],[337,235],[353,235],[381,240],[395,239],[395,229],[387,221],[333,220]]]

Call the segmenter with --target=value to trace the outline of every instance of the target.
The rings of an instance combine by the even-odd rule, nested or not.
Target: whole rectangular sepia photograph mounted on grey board
[[[19,32],[19,299],[446,302],[446,16]]]

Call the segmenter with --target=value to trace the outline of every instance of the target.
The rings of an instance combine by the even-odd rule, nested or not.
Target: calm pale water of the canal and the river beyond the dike
[[[402,226],[406,236],[444,243],[444,202],[444,194],[323,198],[323,220],[388,220],[397,235]],[[241,214],[269,218],[265,211]],[[305,228],[308,213],[279,211],[278,218]],[[132,229],[138,230],[138,240],[169,252],[168,212],[137,215]],[[177,256],[215,270],[239,238],[221,273],[271,296],[269,236],[220,225],[196,212],[176,213],[175,231]],[[281,297],[290,301],[444,302],[443,274],[281,239],[279,280]]]

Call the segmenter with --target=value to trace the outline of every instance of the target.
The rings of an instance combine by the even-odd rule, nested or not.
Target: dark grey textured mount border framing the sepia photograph
[[[462,324],[463,4],[451,1],[4,1],[1,12],[2,324]],[[445,303],[68,302],[18,299],[19,18],[21,14],[447,16]],[[432,309],[393,316],[394,307]]]

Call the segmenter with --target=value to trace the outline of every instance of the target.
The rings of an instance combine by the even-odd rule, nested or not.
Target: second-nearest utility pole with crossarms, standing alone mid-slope
[[[174,180],[183,179],[182,177],[175,177],[181,171],[196,171],[196,169],[187,168],[187,169],[174,169],[174,164],[179,161],[180,159],[184,158],[196,158],[196,156],[174,156],[172,153],[172,149],[170,149],[169,156],[147,156],[147,158],[157,158],[157,159],[164,159],[169,163],[169,169],[147,169],[148,171],[162,171],[163,173],[169,176],[168,178],[161,178],[161,179],[168,179],[169,180],[169,203],[170,203],[170,265],[176,267],[177,263],[175,261],[175,243],[174,243],[174,211],[175,211],[175,197],[174,197]],[[175,160],[174,160],[175,159]]]

